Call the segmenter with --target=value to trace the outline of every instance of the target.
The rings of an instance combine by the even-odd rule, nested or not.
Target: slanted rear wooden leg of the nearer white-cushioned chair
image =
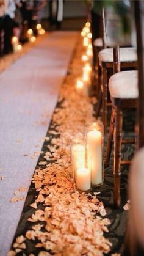
[[[113,144],[113,123],[115,119],[115,109],[112,107],[112,113],[110,118],[110,128],[109,128],[109,137],[107,141],[107,152],[106,152],[106,159],[104,161],[104,167],[109,165],[110,155],[112,152],[112,144]]]

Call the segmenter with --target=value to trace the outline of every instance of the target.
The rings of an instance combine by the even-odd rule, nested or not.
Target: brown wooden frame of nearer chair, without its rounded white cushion
[[[120,72],[120,48],[119,46],[113,48],[113,72]],[[104,166],[107,167],[110,160],[110,153],[112,152],[112,145],[114,141],[114,163],[113,163],[113,176],[114,176],[114,203],[120,206],[120,183],[121,183],[121,165],[130,164],[131,161],[121,160],[121,145],[134,144],[135,139],[123,139],[123,108],[137,108],[137,99],[121,99],[113,98],[112,101],[112,114],[110,119],[109,137],[107,142],[107,153]]]

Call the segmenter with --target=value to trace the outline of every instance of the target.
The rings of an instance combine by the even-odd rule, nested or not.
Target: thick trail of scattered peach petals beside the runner
[[[77,95],[74,89],[75,79],[80,75],[81,54],[79,43],[60,90],[59,107],[52,117],[50,128],[55,129],[49,130],[50,144],[48,141],[43,158],[47,167],[40,166],[32,179],[38,196],[31,204],[35,210],[27,221],[32,227],[24,238],[34,241],[39,256],[101,256],[112,246],[104,237],[110,221],[104,218],[103,203],[96,195],[75,191],[71,181],[70,138],[84,134],[85,123],[95,120],[90,98]],[[14,245],[10,255],[22,250]]]

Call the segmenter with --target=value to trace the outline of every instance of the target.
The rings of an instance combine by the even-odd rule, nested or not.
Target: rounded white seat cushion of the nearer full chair
[[[137,70],[122,71],[111,76],[109,79],[109,91],[113,98],[137,98]]]

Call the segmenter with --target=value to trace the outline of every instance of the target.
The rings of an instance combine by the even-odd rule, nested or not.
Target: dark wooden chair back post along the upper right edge
[[[137,57],[138,57],[138,147],[144,145],[144,1],[134,1],[135,25],[137,31]]]

